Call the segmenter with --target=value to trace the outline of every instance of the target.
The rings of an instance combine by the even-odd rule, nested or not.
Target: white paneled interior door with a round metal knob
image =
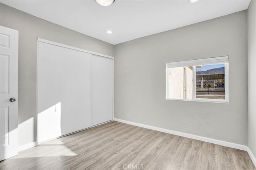
[[[18,31],[0,26],[0,161],[17,154]]]

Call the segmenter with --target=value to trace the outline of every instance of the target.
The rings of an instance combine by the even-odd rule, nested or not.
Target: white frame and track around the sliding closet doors
[[[98,55],[98,56],[106,57],[106,58],[109,58],[109,59],[113,60],[113,77],[112,77],[112,80],[113,80],[113,83],[112,83],[113,84],[113,86],[112,86],[112,108],[113,108],[112,109],[112,120],[113,120],[114,119],[114,57],[109,56],[109,55],[96,53],[96,52],[93,52],[93,51],[80,49],[80,48],[77,48],[77,47],[72,47],[72,46],[69,46],[69,45],[61,44],[61,43],[56,43],[56,42],[49,41],[49,40],[46,40],[46,39],[41,39],[41,38],[37,38],[37,48],[39,46],[39,42],[48,43],[48,44],[56,45],[56,46],[59,46],[59,47],[65,47],[65,48],[73,49],[73,50],[77,50],[77,51],[82,51],[82,52],[85,52],[85,53],[90,53],[90,54],[93,54],[93,55]],[[36,73],[36,145],[38,145],[38,49],[37,49],[37,68],[36,69],[37,69],[37,73]],[[112,120],[110,120],[110,121],[112,121]],[[104,123],[107,123],[107,122],[104,122]],[[100,123],[98,125],[101,125],[101,124],[104,124],[104,123]],[[95,126],[98,126],[98,125],[94,125],[94,126],[91,125],[91,127],[95,127]],[[91,127],[88,127],[86,129],[89,129]],[[83,130],[84,129],[79,130],[79,131],[83,131]],[[77,133],[79,131],[72,132],[72,133]],[[66,134],[66,135],[70,135],[72,133],[69,133],[69,134]],[[62,135],[60,137],[64,137],[66,135]],[[56,137],[55,139],[60,138],[60,137]],[[50,140],[52,140],[52,139],[50,139]],[[44,142],[46,142],[46,141],[44,141]]]

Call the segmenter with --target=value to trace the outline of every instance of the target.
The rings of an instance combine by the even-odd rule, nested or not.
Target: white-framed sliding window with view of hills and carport
[[[166,63],[166,99],[228,103],[228,56]]]

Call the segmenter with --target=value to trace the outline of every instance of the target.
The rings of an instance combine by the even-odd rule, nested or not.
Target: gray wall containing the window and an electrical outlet
[[[226,55],[229,104],[165,99],[166,62]],[[246,145],[246,11],[118,44],[114,70],[115,118]]]

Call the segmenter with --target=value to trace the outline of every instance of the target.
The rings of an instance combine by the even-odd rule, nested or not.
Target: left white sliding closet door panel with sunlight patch
[[[91,126],[91,54],[38,41],[38,143]]]

